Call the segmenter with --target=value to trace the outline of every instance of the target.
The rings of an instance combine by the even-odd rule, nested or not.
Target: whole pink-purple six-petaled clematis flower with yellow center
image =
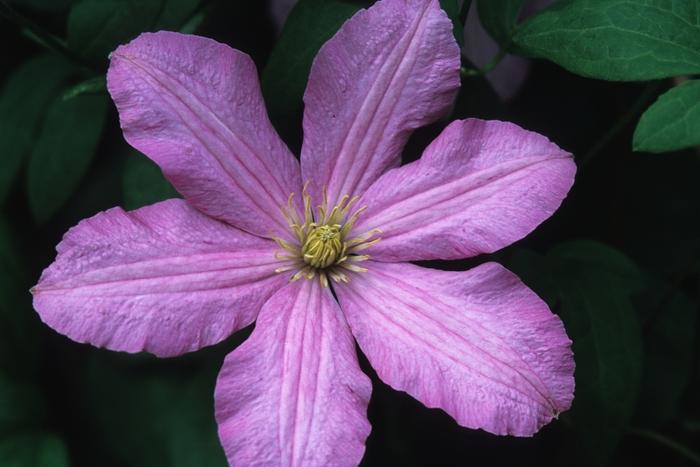
[[[457,423],[528,436],[572,400],[561,321],[495,263],[559,206],[570,154],[504,122],[455,121],[400,165],[411,130],[459,86],[435,0],[384,0],[316,57],[301,164],[265,112],[251,59],[213,40],[142,34],[111,56],[127,141],[183,195],[80,222],[33,289],[78,342],[169,357],[257,320],[225,359],[215,404],[233,465],[354,465],[379,377]]]

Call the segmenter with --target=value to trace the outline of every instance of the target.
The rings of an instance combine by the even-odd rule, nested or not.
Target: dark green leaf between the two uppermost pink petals
[[[290,141],[302,110],[311,63],[321,46],[360,9],[343,0],[300,0],[289,14],[262,73],[262,89],[272,121]]]

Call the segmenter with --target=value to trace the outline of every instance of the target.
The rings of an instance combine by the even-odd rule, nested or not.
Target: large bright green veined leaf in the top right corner
[[[583,76],[650,80],[700,72],[694,0],[564,0],[526,21],[515,51]]]

